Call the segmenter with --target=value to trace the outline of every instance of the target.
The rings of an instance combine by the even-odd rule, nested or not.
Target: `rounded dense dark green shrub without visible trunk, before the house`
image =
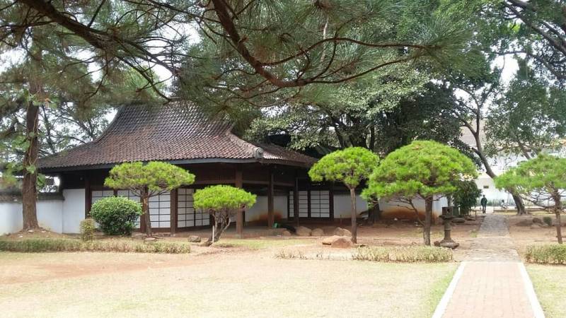
[[[122,196],[100,199],[93,204],[91,216],[108,235],[130,235],[141,216],[141,204]]]

